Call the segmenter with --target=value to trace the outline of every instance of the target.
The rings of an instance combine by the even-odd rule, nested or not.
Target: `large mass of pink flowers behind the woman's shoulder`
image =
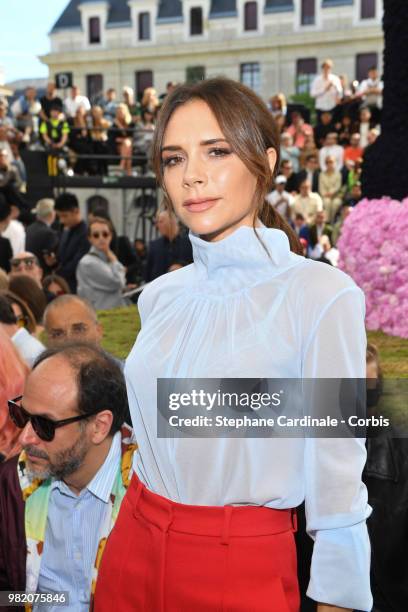
[[[408,338],[408,198],[362,200],[344,221],[339,267],[366,297],[366,326]]]

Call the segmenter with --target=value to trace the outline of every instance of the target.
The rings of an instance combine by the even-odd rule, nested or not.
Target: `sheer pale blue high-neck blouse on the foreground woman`
[[[127,359],[130,412],[146,486],[184,504],[292,508],[314,539],[308,595],[370,610],[370,514],[361,439],[157,438],[157,378],[365,378],[364,297],[286,235],[241,227],[190,234],[194,263],[147,287]]]

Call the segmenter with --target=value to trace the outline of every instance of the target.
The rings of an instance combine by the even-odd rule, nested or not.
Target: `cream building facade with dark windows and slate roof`
[[[382,12],[382,0],[71,0],[41,60],[93,99],[225,75],[266,100],[305,91],[328,57],[349,81],[381,70]]]

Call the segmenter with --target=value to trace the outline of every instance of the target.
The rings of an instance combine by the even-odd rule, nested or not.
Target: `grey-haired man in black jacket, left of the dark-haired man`
[[[51,225],[55,221],[54,200],[43,198],[33,210],[36,221],[26,229],[26,249],[37,256],[45,274],[50,272],[44,256],[55,253],[58,247],[58,234]]]

